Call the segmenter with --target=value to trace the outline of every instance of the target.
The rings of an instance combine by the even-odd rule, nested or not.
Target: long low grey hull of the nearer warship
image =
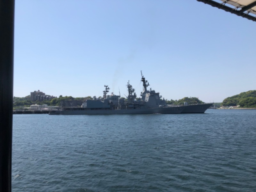
[[[66,110],[50,111],[49,115],[111,115],[111,114],[179,114],[185,106],[145,108],[145,109],[90,109],[68,108]]]

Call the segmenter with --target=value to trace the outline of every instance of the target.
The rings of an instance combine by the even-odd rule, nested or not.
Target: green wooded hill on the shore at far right
[[[242,92],[228,97],[221,103],[222,106],[240,106],[242,108],[256,108],[256,90]]]

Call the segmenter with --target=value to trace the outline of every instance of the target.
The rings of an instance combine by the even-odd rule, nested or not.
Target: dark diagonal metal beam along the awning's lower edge
[[[226,12],[230,12],[230,13],[233,13],[233,14],[236,14],[238,16],[241,16],[241,17],[244,17],[244,18],[247,18],[249,20],[252,20],[252,21],[256,21],[256,15],[255,17],[253,17],[252,15],[249,15],[248,13],[243,13],[243,12],[240,12],[241,10],[237,11],[236,7],[235,8],[231,8],[231,7],[228,7],[226,5],[223,5],[223,4],[220,4],[220,3],[217,3],[215,1],[212,1],[212,0],[197,0],[199,2],[203,2],[205,4],[209,4],[209,5],[212,5],[213,7],[217,7],[219,9],[222,9]],[[255,2],[253,2],[255,3]],[[252,3],[252,4],[253,4]],[[250,8],[249,8],[250,9]]]

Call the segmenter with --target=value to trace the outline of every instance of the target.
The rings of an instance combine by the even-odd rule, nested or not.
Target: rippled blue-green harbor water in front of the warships
[[[12,191],[256,191],[256,110],[13,115]]]

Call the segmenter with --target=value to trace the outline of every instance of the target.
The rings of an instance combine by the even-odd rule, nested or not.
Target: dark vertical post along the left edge
[[[14,0],[0,0],[0,191],[12,184]]]

